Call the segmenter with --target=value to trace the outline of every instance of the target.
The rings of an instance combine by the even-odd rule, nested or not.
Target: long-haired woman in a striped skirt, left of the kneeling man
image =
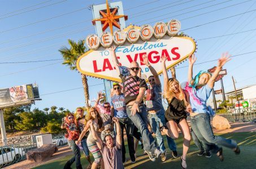
[[[76,144],[79,144],[83,139],[86,132],[89,130],[89,135],[87,137],[86,143],[90,152],[93,154],[94,162],[92,164],[92,169],[96,169],[99,164],[101,164],[102,154],[99,151],[99,148],[96,144],[96,140],[93,138],[92,131],[90,131],[90,124],[87,123],[90,119],[93,120],[93,127],[94,130],[97,132],[98,135],[101,135],[101,131],[104,129],[103,122],[101,119],[101,115],[96,108],[91,107],[89,108],[89,116],[85,118],[85,127],[84,130],[81,132],[79,139],[76,141]]]

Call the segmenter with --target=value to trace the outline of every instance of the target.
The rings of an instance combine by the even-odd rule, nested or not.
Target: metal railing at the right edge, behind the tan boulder
[[[256,108],[228,109],[224,115],[229,122],[256,122]]]

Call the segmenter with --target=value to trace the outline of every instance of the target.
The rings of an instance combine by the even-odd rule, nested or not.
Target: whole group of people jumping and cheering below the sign
[[[181,168],[187,168],[191,135],[199,148],[198,155],[211,157],[216,154],[220,161],[224,160],[222,146],[240,154],[240,148],[235,140],[215,136],[210,124],[212,114],[206,101],[209,99],[215,78],[222,66],[229,61],[228,53],[218,60],[213,74],[200,71],[193,78],[193,65],[196,62],[194,54],[189,56],[188,81],[181,85],[176,78],[168,78],[166,56],[161,57],[163,69],[163,91],[158,73],[149,63],[147,55],[143,56],[145,64],[152,75],[146,80],[141,78],[141,68],[132,61],[129,68],[121,66],[116,57],[116,47],[110,48],[112,60],[122,83],[113,83],[110,103],[101,103],[104,94],[98,92],[95,105],[84,109],[79,107],[75,114],[63,118],[62,128],[66,128],[68,145],[74,157],[64,166],[71,168],[76,162],[76,168],[82,168],[80,149],[83,149],[89,162],[87,168],[124,168],[125,158],[124,129],[127,136],[129,157],[136,162],[136,148],[141,141],[144,151],[151,161],[161,158],[166,161],[167,149],[164,146],[166,135],[168,147],[173,158],[177,158],[176,144],[173,139],[183,135],[183,153],[180,155]],[[167,100],[168,108],[164,110],[162,97]],[[190,118],[191,131],[187,122]],[[149,127],[150,126],[150,127]],[[149,130],[150,128],[150,130]],[[154,133],[155,137],[152,136]],[[89,156],[92,153],[94,161]]]

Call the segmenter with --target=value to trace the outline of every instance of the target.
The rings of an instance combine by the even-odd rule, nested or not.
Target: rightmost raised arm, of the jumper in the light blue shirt
[[[207,84],[210,88],[214,87],[215,78],[218,76],[220,70],[222,70],[222,66],[224,66],[225,63],[227,63],[229,60],[231,60],[230,56],[231,55],[229,55],[228,52],[225,52],[222,54],[222,57],[220,57],[220,59],[218,60],[217,68],[216,68],[215,72],[212,74],[209,81],[207,82]]]

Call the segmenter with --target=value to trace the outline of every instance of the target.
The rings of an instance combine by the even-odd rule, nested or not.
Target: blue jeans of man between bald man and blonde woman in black
[[[155,114],[148,115],[149,122],[152,127],[152,130],[155,133],[155,137],[157,137],[157,143],[159,146],[159,149],[162,153],[166,152],[166,147],[164,146],[163,136],[160,131],[160,127],[166,126],[166,119],[164,118],[164,110],[159,110]],[[143,140],[143,139],[142,139]]]

